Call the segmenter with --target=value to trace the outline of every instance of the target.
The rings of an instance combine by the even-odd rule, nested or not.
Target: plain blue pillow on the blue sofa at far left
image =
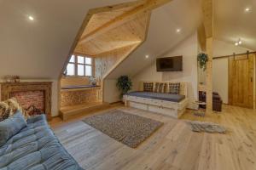
[[[26,127],[26,120],[20,111],[0,122],[0,147],[16,133],[19,133],[23,127]]]

